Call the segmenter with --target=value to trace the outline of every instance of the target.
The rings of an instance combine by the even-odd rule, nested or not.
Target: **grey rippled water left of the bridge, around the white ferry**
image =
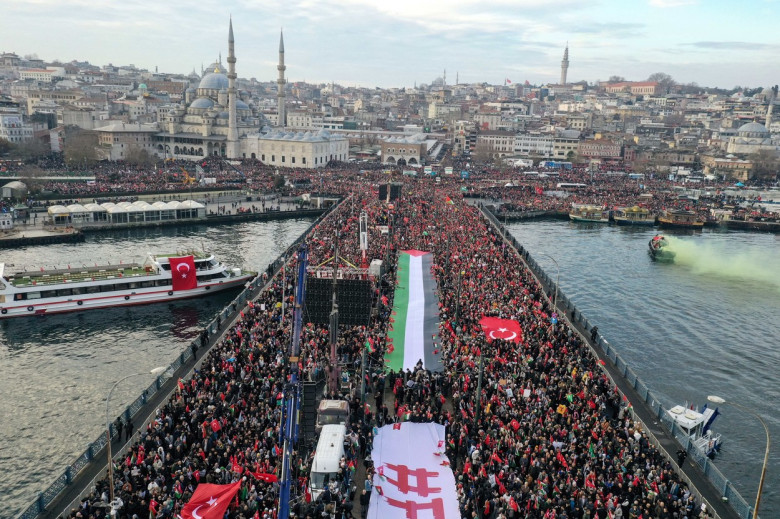
[[[262,271],[311,220],[137,229],[82,244],[4,251],[19,267],[143,261],[148,252],[206,248],[226,265]],[[0,517],[15,517],[105,430],[106,396],[125,375],[169,365],[237,294],[0,321]],[[115,418],[153,381],[111,396]],[[137,425],[137,424],[136,424]]]

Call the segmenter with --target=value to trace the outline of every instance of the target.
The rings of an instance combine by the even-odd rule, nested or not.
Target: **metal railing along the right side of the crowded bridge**
[[[490,211],[482,209],[482,214],[495,225],[500,233],[509,241],[515,249],[523,256],[526,264],[533,271],[534,275],[542,282],[543,288],[547,293],[555,290],[555,280],[548,276],[544,269],[541,268],[539,263],[531,256],[531,254],[512,236],[504,225],[496,218],[496,216]],[[570,321],[573,324],[581,325],[585,330],[592,331],[593,325],[580,312],[574,303],[561,291],[558,287],[558,307],[566,313],[567,317],[570,317]],[[639,393],[639,396],[644,398],[655,413],[664,428],[671,434],[677,442],[688,452],[689,458],[694,461],[699,467],[701,467],[704,474],[709,478],[713,486],[720,492],[721,499],[727,501],[729,505],[737,512],[737,514],[743,519],[749,519],[752,517],[753,507],[743,498],[731,481],[710,461],[707,456],[701,455],[696,448],[691,444],[690,438],[677,426],[677,424],[669,417],[666,412],[667,409],[661,403],[660,399],[649,389],[649,386],[639,378],[634,370],[623,360],[617,350],[612,346],[602,335],[597,331],[596,345],[601,348],[604,354],[613,362],[613,364],[622,373],[623,377],[628,380],[631,386]]]

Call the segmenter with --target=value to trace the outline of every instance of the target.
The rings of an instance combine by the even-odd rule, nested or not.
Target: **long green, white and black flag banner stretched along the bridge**
[[[433,254],[418,250],[398,256],[398,284],[387,334],[388,370],[414,369],[422,360],[431,371],[444,371],[438,344],[439,298],[431,273]]]

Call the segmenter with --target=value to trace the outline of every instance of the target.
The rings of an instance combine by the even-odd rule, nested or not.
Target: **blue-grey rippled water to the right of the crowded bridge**
[[[652,229],[515,223],[509,231],[554,278],[668,407],[732,400],[760,414],[780,437],[780,236],[666,233],[674,263],[653,262]],[[758,420],[722,405],[713,429],[716,466],[752,505],[764,458]],[[777,443],[775,443],[777,445]],[[770,455],[760,515],[780,516],[780,449]]]

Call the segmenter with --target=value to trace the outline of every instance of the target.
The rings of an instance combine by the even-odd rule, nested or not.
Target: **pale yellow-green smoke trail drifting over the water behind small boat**
[[[741,244],[699,243],[666,236],[674,263],[698,275],[754,281],[780,290],[780,256]]]

